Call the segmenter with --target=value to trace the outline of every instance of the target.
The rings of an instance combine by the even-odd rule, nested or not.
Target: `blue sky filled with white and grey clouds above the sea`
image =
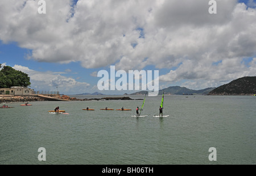
[[[99,91],[100,70],[159,70],[159,89],[218,87],[256,76],[256,1],[0,1],[0,63],[35,91]],[[118,78],[116,78],[118,79]]]

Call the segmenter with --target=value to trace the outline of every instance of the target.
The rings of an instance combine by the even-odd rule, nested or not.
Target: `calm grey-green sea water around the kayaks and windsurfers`
[[[148,117],[139,118],[131,115],[142,100],[7,104],[15,108],[0,109],[0,164],[256,163],[255,97],[165,96],[163,113],[170,117],[152,117],[161,98],[146,97],[141,115]],[[69,115],[49,114],[56,106]],[[100,110],[105,106],[132,111]],[[38,161],[39,147],[47,161]],[[210,147],[217,161],[209,161]]]

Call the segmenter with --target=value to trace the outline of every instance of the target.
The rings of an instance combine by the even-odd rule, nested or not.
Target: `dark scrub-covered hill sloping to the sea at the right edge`
[[[246,76],[221,85],[209,95],[253,95],[256,93],[256,76]]]

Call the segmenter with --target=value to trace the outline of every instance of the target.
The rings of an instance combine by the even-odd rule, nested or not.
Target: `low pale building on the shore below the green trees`
[[[33,95],[34,89],[26,87],[0,88],[0,95]]]

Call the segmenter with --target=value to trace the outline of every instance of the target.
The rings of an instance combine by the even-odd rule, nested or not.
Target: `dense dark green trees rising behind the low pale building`
[[[22,71],[15,70],[10,66],[3,66],[0,71],[0,87],[2,88],[14,86],[28,87],[30,84],[30,77]]]

